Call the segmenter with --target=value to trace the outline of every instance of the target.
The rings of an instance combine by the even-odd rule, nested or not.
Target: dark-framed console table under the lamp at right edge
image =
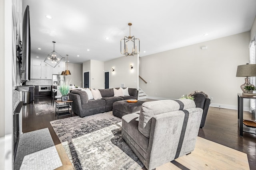
[[[244,99],[256,99],[256,94],[254,95],[244,95],[242,93],[237,94],[238,99],[238,125],[240,131],[240,137],[243,136],[243,132],[252,133],[248,131],[243,131],[243,113],[244,113]],[[253,133],[255,134],[255,133]]]

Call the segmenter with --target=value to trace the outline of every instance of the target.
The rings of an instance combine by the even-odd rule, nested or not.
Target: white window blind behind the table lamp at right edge
[[[250,64],[256,64],[256,47],[255,47],[255,37],[250,42]],[[250,77],[250,83],[256,86],[256,77]],[[250,99],[250,112],[255,113],[256,101],[255,99]]]

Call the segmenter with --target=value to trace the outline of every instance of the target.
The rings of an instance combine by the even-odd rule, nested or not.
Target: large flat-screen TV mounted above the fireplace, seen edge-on
[[[29,6],[26,7],[22,21],[22,82],[30,80],[30,20]]]

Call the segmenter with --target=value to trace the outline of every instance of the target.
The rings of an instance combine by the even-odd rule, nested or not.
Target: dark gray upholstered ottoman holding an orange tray
[[[130,113],[140,113],[140,109],[144,101],[138,100],[136,103],[128,103],[126,100],[114,102],[113,115],[122,118]]]

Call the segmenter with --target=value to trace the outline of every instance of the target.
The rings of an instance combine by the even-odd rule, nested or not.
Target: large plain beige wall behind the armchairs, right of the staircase
[[[140,57],[140,76],[149,82],[140,80],[140,88],[148,96],[172,99],[202,90],[214,98],[212,104],[236,109],[244,83],[244,78],[236,77],[236,69],[249,62],[249,41],[248,31]],[[249,107],[248,100],[244,106]]]

